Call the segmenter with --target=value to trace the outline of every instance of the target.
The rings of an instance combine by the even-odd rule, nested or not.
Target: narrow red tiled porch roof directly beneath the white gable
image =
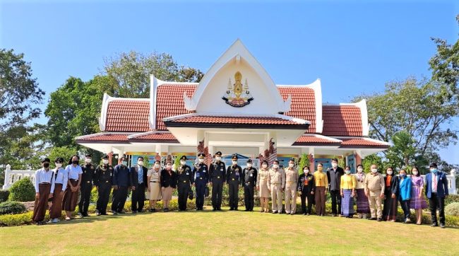
[[[186,124],[244,124],[252,126],[254,124],[260,125],[299,125],[302,127],[307,124],[302,124],[292,120],[287,120],[280,117],[231,117],[231,116],[208,116],[208,115],[194,115],[191,117],[182,117],[176,120],[167,122],[166,126],[172,126],[171,123],[186,123]]]

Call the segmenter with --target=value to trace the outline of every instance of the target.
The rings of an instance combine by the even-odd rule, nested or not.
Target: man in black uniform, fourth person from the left
[[[95,166],[91,163],[93,155],[88,154],[85,156],[85,163],[81,165],[83,174],[81,175],[81,199],[78,204],[78,215],[82,217],[88,215],[88,207],[91,199],[91,190],[93,190],[93,180],[95,176]]]

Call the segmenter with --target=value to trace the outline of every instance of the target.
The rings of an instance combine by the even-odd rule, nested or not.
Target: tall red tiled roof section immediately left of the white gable
[[[188,114],[185,109],[184,92],[188,97],[193,96],[197,85],[167,83],[157,86],[156,92],[156,129],[167,130],[162,119],[175,115]]]

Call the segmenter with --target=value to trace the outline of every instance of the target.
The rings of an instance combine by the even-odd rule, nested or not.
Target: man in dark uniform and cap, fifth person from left
[[[107,215],[107,204],[112,191],[113,167],[108,163],[108,156],[102,157],[102,165],[95,169],[94,185],[97,188],[96,214]]]

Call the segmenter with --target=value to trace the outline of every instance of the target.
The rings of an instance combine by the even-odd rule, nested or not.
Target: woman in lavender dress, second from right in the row
[[[427,201],[424,198],[424,178],[421,177],[419,169],[415,166],[411,169],[413,174],[411,177],[411,200],[408,211],[415,209],[416,224],[421,225],[422,222],[422,209],[427,209]]]

